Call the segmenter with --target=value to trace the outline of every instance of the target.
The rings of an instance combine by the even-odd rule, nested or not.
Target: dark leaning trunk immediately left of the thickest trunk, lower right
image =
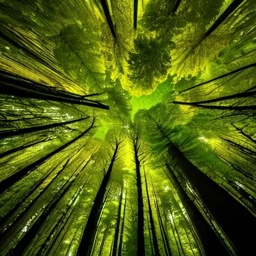
[[[165,166],[170,174],[170,182],[176,189],[182,205],[184,206],[186,213],[191,221],[191,224],[193,225],[191,229],[195,229],[195,232],[199,234],[199,238],[202,241],[202,246],[205,250],[206,255],[229,255],[226,248],[223,246],[214,231],[211,229],[210,225],[207,223],[198,208],[194,205],[192,200],[186,194],[183,187],[180,185],[169,164],[165,163]],[[200,254],[203,255],[203,251],[201,251]]]

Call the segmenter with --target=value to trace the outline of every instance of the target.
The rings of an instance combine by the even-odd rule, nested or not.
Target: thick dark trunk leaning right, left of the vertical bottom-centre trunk
[[[121,142],[117,142],[117,141],[115,143],[115,149],[114,149],[110,164],[109,164],[108,169],[107,169],[107,171],[103,177],[103,180],[99,186],[98,192],[94,199],[93,206],[92,206],[90,214],[88,216],[88,219],[87,219],[87,222],[86,222],[86,225],[85,225],[85,228],[84,228],[84,231],[83,231],[80,243],[79,243],[79,247],[77,249],[77,253],[76,253],[77,256],[89,255],[89,253],[91,251],[93,239],[94,239],[94,236],[96,233],[96,226],[97,226],[98,218],[100,216],[100,212],[101,212],[101,208],[102,208],[102,202],[103,202],[106,186],[108,184],[110,173],[112,171],[113,163],[115,161],[118,146],[120,143]]]

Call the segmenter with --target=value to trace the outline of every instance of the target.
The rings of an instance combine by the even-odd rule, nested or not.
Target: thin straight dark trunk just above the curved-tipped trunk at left
[[[37,125],[37,126],[32,126],[32,127],[27,127],[27,128],[17,128],[15,130],[1,130],[0,131],[0,139],[5,138],[5,137],[9,137],[9,136],[16,136],[16,135],[26,134],[26,133],[30,133],[30,132],[46,130],[46,129],[50,129],[50,128],[70,124],[70,123],[73,123],[73,122],[82,121],[82,120],[88,119],[88,118],[89,117],[83,117],[83,118],[74,119],[74,120],[70,120],[70,121],[54,122],[54,123],[50,123],[50,124]]]

